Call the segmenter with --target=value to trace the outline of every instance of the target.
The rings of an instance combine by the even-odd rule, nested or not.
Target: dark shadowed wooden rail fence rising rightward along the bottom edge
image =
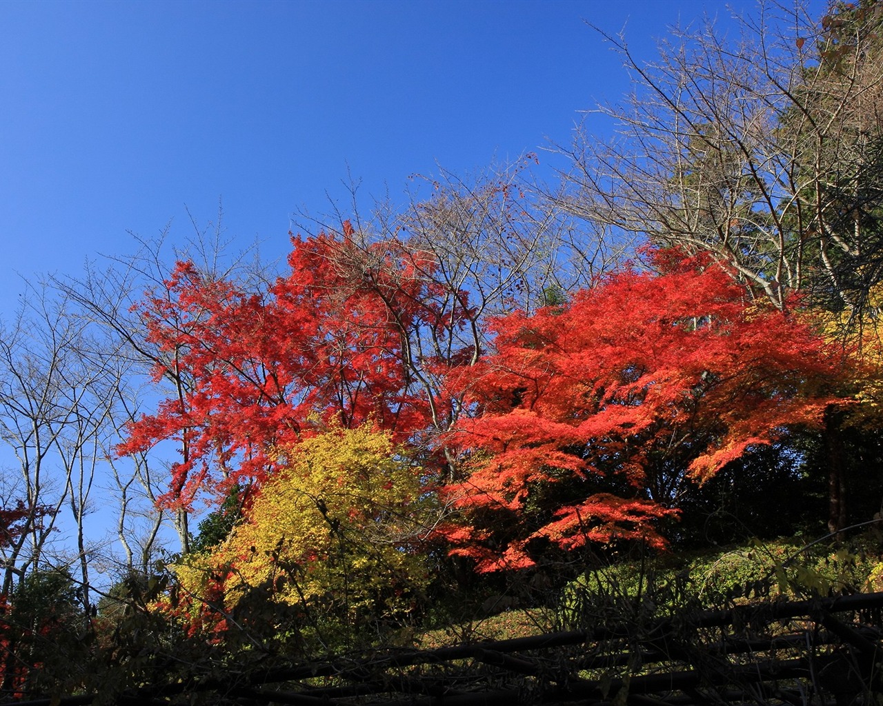
[[[774,600],[437,650],[157,684],[120,706],[856,706],[883,694],[883,592]],[[16,702],[85,706],[94,695]]]

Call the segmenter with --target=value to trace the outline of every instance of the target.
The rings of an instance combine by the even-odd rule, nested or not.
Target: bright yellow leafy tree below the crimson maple
[[[280,455],[283,471],[230,537],[178,565],[182,587],[205,596],[218,577],[228,607],[260,587],[350,619],[406,611],[428,583],[416,546],[429,502],[421,469],[366,426],[332,428]]]

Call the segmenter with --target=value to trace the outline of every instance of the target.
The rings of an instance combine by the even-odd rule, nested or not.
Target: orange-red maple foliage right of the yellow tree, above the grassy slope
[[[655,265],[496,319],[495,355],[453,379],[477,378],[480,414],[458,432],[472,472],[447,489],[466,525],[449,539],[479,570],[531,565],[538,540],[663,545],[657,521],[690,480],[838,402],[840,358],[808,327],[721,267],[672,252]]]

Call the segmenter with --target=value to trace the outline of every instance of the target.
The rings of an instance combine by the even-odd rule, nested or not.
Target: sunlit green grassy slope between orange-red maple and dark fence
[[[848,541],[807,547],[796,538],[706,552],[667,552],[587,571],[571,582],[555,608],[509,608],[413,635],[419,649],[505,640],[575,629],[605,615],[650,610],[657,616],[683,605],[734,605],[770,597],[809,597],[883,590],[883,530]],[[503,602],[504,603],[504,602]]]

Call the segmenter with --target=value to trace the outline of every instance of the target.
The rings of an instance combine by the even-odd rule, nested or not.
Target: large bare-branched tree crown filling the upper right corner
[[[643,64],[622,35],[633,91],[600,107],[601,143],[578,130],[559,204],[597,229],[705,250],[752,291],[860,307],[883,249],[883,61],[879,4],[812,19],[760,4],[737,36],[711,20],[675,29]]]

